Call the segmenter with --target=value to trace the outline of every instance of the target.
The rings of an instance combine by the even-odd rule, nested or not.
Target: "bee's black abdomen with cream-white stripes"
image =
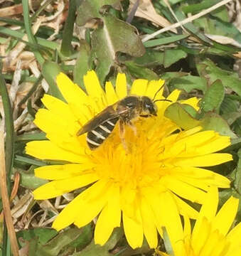
[[[86,140],[90,149],[96,149],[105,141],[105,139],[107,139],[107,137],[109,137],[109,134],[112,133],[118,120],[119,117],[109,119],[95,127],[95,129],[92,129],[90,132],[87,132]]]

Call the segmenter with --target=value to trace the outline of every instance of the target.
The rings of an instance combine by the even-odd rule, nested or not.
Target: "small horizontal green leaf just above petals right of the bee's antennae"
[[[181,78],[173,78],[170,85],[179,90],[191,92],[192,90],[201,90],[205,92],[207,88],[206,80],[194,75],[185,75]]]

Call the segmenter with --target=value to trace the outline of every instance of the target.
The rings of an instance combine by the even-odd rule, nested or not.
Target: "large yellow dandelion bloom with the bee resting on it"
[[[150,247],[156,247],[161,226],[177,229],[169,221],[172,214],[196,218],[196,210],[183,198],[203,203],[210,186],[230,186],[227,178],[201,168],[232,160],[230,154],[214,153],[228,146],[230,139],[214,131],[202,132],[200,127],[181,131],[164,117],[166,107],[178,100],[180,91],[175,90],[168,96],[171,102],[156,102],[157,117],[140,118],[134,123],[136,135],[125,127],[128,151],[119,138],[118,125],[101,146],[90,150],[86,134],[77,136],[84,124],[127,94],[151,99],[156,94],[156,100],[164,99],[163,90],[159,91],[164,80],[135,80],[130,92],[124,74],[117,75],[115,87],[107,82],[105,91],[94,71],[85,75],[84,82],[86,93],[60,73],[57,84],[65,102],[50,95],[42,99],[46,109],[38,110],[34,122],[48,140],[29,142],[26,152],[38,159],[67,163],[37,168],[36,176],[50,182],[33,195],[40,200],[54,198],[88,186],[62,210],[53,228],[61,230],[72,223],[82,227],[98,215],[97,244],[105,244],[122,221],[129,245],[141,247],[145,236]],[[198,99],[184,103],[196,107]]]

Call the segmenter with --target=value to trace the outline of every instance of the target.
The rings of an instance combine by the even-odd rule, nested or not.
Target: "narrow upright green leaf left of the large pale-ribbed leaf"
[[[88,70],[90,70],[90,68],[90,46],[86,41],[82,40],[80,41],[80,49],[73,71],[74,82],[82,87],[82,89],[85,88],[83,76],[87,73]]]

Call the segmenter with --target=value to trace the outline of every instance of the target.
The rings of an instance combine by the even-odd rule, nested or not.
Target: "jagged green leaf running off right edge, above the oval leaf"
[[[197,69],[200,77],[206,79],[208,77],[210,82],[220,79],[225,87],[229,87],[236,92],[237,95],[241,96],[241,80],[238,78],[237,73],[222,70],[209,59],[205,59],[202,63],[199,63]]]

